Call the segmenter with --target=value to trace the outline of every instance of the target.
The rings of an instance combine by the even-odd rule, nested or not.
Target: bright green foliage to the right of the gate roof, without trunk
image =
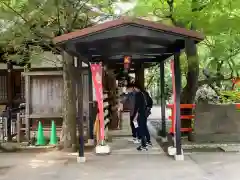
[[[198,85],[221,88],[229,86],[229,80],[240,73],[239,9],[238,0],[138,0],[134,13],[168,25],[202,31],[206,39],[198,45]],[[188,63],[186,56],[182,55],[183,80]]]

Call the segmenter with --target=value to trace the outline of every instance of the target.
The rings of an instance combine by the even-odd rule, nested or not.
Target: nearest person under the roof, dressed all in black
[[[136,91],[136,94],[133,117],[135,121],[134,124],[136,124],[137,121],[138,133],[141,139],[141,145],[137,148],[137,150],[148,150],[147,146],[152,146],[152,143],[147,127],[147,100],[139,85],[135,84],[134,89]]]

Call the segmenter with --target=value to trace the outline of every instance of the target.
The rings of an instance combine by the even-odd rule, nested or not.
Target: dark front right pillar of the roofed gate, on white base
[[[175,80],[175,144],[176,155],[182,155],[181,147],[181,112],[180,112],[180,94],[181,94],[181,70],[180,70],[180,52],[174,54],[174,80]]]

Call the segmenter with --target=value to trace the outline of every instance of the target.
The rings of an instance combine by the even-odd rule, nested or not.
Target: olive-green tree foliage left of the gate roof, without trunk
[[[39,61],[43,51],[58,53],[53,37],[111,18],[112,6],[110,0],[0,0],[2,58]]]

